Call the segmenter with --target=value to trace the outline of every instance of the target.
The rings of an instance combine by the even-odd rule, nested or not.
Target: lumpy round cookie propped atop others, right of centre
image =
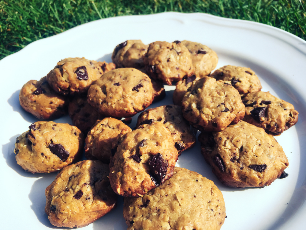
[[[192,83],[182,101],[183,116],[206,132],[219,132],[244,117],[244,104],[229,82],[203,77]]]

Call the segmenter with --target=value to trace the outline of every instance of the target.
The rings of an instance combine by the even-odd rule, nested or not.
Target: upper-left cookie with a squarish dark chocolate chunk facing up
[[[114,69],[113,63],[90,61],[85,58],[66,58],[57,63],[47,74],[49,85],[58,93],[73,95],[86,93],[91,83],[104,71]]]

